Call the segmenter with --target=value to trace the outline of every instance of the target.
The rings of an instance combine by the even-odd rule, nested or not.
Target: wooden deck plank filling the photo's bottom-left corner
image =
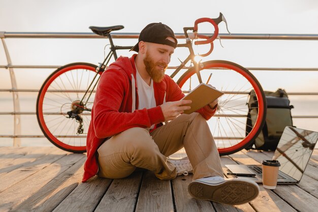
[[[49,166],[0,193],[0,211],[8,211],[35,195],[49,181],[67,170],[81,157],[79,154],[55,155],[52,161],[47,162]]]

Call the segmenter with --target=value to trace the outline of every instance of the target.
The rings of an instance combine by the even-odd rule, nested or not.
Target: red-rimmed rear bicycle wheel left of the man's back
[[[83,92],[96,75],[96,68],[96,65],[88,63],[73,63],[60,67],[45,80],[39,91],[38,123],[45,137],[58,148],[72,153],[86,152],[90,111],[83,110],[79,113],[83,124],[83,132],[80,134],[80,122],[76,118],[67,117],[67,112],[72,110],[74,105],[78,106],[84,96]],[[94,80],[98,80],[96,78]],[[94,92],[87,101],[89,108],[92,106],[93,98]]]

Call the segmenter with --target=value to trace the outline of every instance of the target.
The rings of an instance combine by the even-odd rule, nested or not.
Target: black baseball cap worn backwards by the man
[[[175,40],[172,42],[167,38],[171,37]],[[130,51],[139,51],[139,42],[149,42],[164,44],[172,46],[173,48],[177,47],[178,41],[174,36],[172,29],[163,23],[149,23],[140,33],[138,43]]]

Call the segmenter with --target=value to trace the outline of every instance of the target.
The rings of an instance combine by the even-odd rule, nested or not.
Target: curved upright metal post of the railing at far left
[[[7,45],[5,43],[5,39],[2,37],[1,38],[3,46],[4,46],[4,50],[6,53],[6,57],[7,57],[7,62],[8,62],[8,66],[11,66],[11,58],[9,55],[9,51],[7,48]],[[11,78],[11,85],[12,85],[12,89],[15,90],[17,89],[17,82],[15,80],[15,75],[14,75],[14,71],[13,68],[9,68],[9,72],[10,72],[10,78]],[[20,102],[19,102],[19,93],[13,91],[12,92],[12,96],[13,96],[13,108],[14,108],[14,112],[20,112]],[[21,138],[17,138],[15,136],[17,135],[21,135],[21,117],[20,114],[14,114],[14,137],[13,137],[13,146],[20,146],[21,145]]]

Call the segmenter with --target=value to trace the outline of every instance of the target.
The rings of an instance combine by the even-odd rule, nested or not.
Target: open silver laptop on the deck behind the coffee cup
[[[298,184],[309,162],[318,132],[285,127],[272,160],[280,163],[277,184]],[[237,176],[262,183],[262,165],[226,165],[232,173],[256,174],[255,177]]]

